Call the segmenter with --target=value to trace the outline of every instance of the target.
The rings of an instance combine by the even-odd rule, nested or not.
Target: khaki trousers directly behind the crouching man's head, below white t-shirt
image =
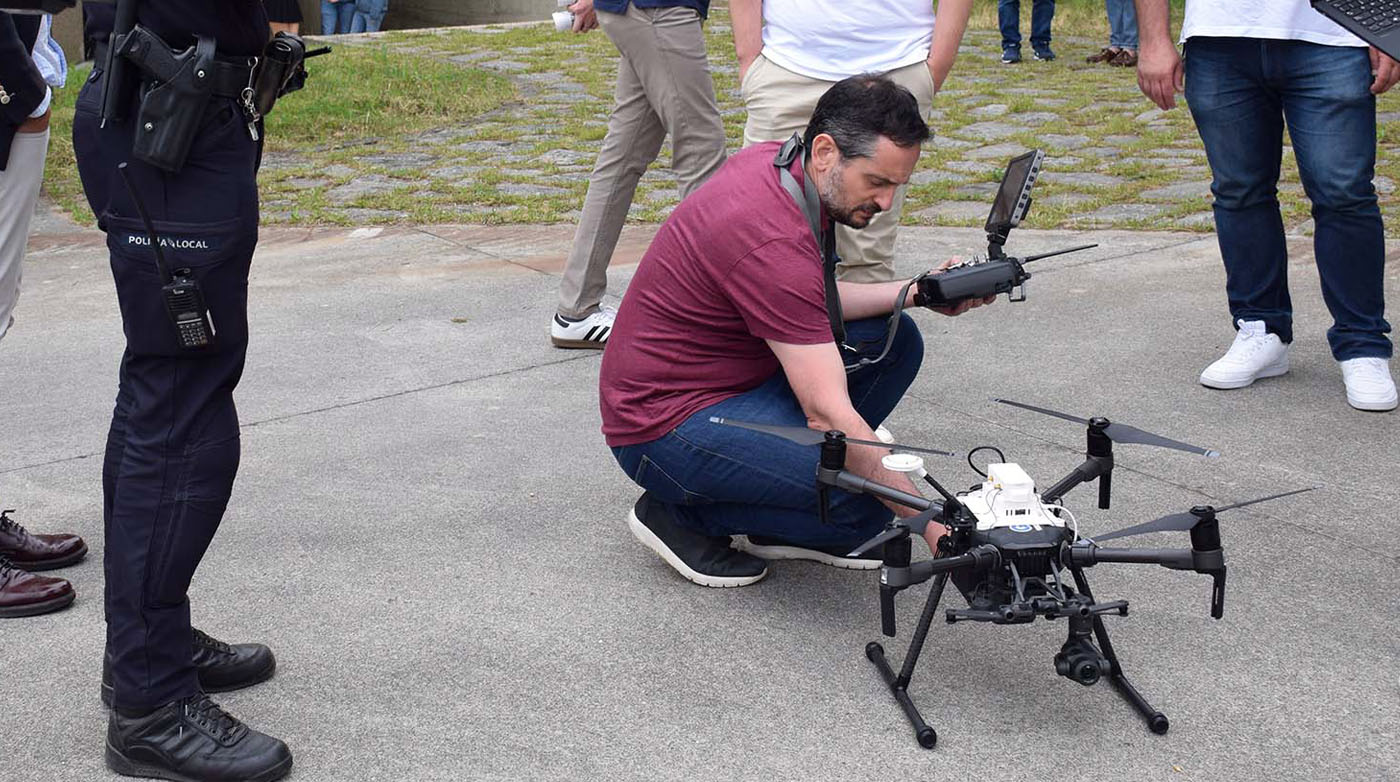
[[[918,112],[927,119],[934,101],[934,77],[928,73],[928,64],[918,62],[885,76],[914,94]],[[836,83],[792,73],[759,55],[739,85],[743,105],[749,111],[749,120],[743,126],[743,145],[785,141],[794,133],[805,130],[816,101],[833,84]],[[865,228],[836,227],[836,252],[841,256],[841,264],[836,267],[837,277],[851,283],[883,283],[895,278],[895,229],[904,207],[904,190],[906,187],[895,190],[895,203],[889,211],[876,214]]]

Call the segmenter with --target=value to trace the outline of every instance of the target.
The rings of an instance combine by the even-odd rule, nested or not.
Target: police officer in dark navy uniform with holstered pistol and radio
[[[123,14],[120,0],[118,18]],[[199,90],[169,87],[136,56],[102,118],[104,83],[118,67],[106,49],[112,13],[91,6],[97,67],[78,95],[73,147],[88,204],[106,232],[126,350],[102,469],[106,572],[106,660],[111,694],[106,764],[119,774],[165,779],[280,779],[284,743],[224,712],[207,691],[272,676],[262,645],[227,645],[190,628],[186,590],[209,547],[238,470],[232,392],[248,346],[248,269],[258,242],[260,123],[239,101],[267,42],[260,0],[136,0],[134,21],[155,36],[146,56],[199,50]],[[126,7],[129,10],[129,7]],[[147,39],[148,42],[151,39]],[[126,60],[123,63],[123,60]],[[108,73],[111,71],[111,73]],[[185,73],[182,77],[189,78]],[[204,92],[200,94],[200,90]],[[136,154],[141,133],[164,130],[197,97],[183,155],[151,162]],[[164,101],[160,119],[143,101]],[[160,154],[171,144],[162,144]],[[150,150],[147,150],[150,152]],[[119,164],[154,222],[140,218]],[[214,339],[190,350],[167,308],[153,245],[168,269],[203,292]],[[109,690],[108,690],[109,687]]]

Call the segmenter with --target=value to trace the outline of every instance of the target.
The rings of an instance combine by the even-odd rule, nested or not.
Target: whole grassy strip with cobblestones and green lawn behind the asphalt
[[[1173,28],[1182,0],[1172,0]],[[1030,0],[1022,3],[1029,35]],[[1102,0],[1058,0],[1053,46],[1058,60],[1002,66],[995,3],[973,7],[958,62],[934,99],[938,138],[924,148],[904,206],[910,224],[973,225],[931,218],[945,201],[987,201],[967,185],[995,182],[1001,154],[977,147],[1042,147],[1047,173],[1113,176],[1037,186],[1028,225],[1082,227],[1105,206],[1134,203],[1144,190],[1207,182],[1201,141],[1184,102],[1156,112],[1130,69],[1088,64],[1107,41]],[[728,3],[717,0],[704,28],[715,98],[728,148],[742,143],[745,116],[729,29]],[[336,52],[311,62],[305,91],[287,97],[270,118],[260,173],[266,222],[559,222],[575,220],[588,173],[606,134],[617,78],[617,50],[601,31],[554,32],[547,22],[491,31],[403,31],[365,41],[333,41]],[[85,73],[76,71],[80,84]],[[49,193],[87,215],[73,173],[69,125],[76,90],[55,108]],[[1378,175],[1389,179],[1382,210],[1400,180],[1400,90],[1383,95]],[[1033,118],[1023,119],[1023,118]],[[1009,130],[974,134],[986,123]],[[1183,154],[1196,152],[1196,154]],[[1009,154],[1007,155],[1009,157]],[[637,190],[629,220],[657,222],[676,201],[665,147]],[[364,187],[365,183],[372,186]],[[1308,220],[1292,155],[1280,182],[1285,224]],[[1151,218],[1113,221],[1121,228],[1208,231],[1197,221],[1208,201],[1183,196]],[[920,214],[924,213],[924,214]],[[1392,235],[1400,234],[1400,222]]]

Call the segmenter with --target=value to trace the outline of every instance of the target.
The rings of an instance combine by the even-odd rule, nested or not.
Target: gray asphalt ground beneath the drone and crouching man
[[[615,295],[650,231],[629,228]],[[220,699],[291,744],[293,779],[1400,778],[1400,414],[1347,407],[1309,239],[1292,243],[1292,372],[1245,390],[1196,381],[1232,339],[1212,235],[1022,229],[1021,253],[1100,246],[1032,267],[1023,304],[916,315],[925,367],[889,421],[906,442],[998,445],[1042,487],[1079,463],[1081,427],[1000,396],[1224,453],[1120,446],[1110,512],[1092,487],[1068,497],[1085,532],[1322,487],[1225,516],[1222,621],[1204,576],[1091,571],[1100,599],[1133,603],[1110,631],[1170,733],[1057,677],[1060,623],[938,621],[911,688],[941,737],[927,751],[861,652],[875,574],[780,562],[711,590],[633,540],[599,357],[546,336],[571,232],[265,232],[242,469],[190,595],[203,630],[276,649],[276,678]],[[99,453],[120,326],[98,234],[45,217],[31,246],[0,350],[0,505],[92,555],[59,571],[70,610],[0,624],[0,778],[104,779]],[[904,229],[900,267],[980,249],[974,229]],[[1400,301],[1394,256],[1386,292]],[[923,595],[900,597],[896,657]]]

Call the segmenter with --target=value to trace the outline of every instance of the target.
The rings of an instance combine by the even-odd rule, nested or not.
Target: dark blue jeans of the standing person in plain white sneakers
[[[1372,178],[1376,98],[1359,46],[1191,38],[1186,102],[1205,143],[1231,320],[1263,320],[1289,343],[1288,248],[1278,211],[1287,123],[1312,201],[1313,250],[1338,361],[1390,357],[1385,234]]]

